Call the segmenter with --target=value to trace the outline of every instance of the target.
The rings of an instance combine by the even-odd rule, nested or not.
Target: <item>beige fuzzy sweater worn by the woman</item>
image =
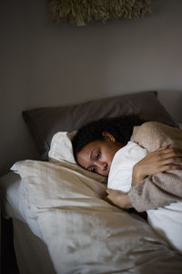
[[[141,126],[134,127],[131,141],[144,147],[148,152],[154,152],[157,148],[167,144],[170,144],[170,147],[182,149],[182,129],[156,121],[148,121]],[[181,163],[180,155],[177,156],[177,162]],[[176,162],[176,159],[172,162]],[[174,164],[173,168],[179,167]],[[150,174],[139,184],[137,183],[136,179],[136,185],[131,188],[128,197],[139,212],[182,201],[182,170],[180,169],[169,169],[157,174]]]

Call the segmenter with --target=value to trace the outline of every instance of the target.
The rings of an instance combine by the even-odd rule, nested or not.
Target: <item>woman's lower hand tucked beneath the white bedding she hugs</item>
[[[130,208],[132,205],[129,202],[128,195],[120,190],[106,189],[106,201],[120,208]]]

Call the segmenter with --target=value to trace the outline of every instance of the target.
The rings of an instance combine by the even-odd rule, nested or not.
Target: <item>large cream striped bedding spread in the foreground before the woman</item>
[[[182,267],[181,257],[144,220],[102,199],[106,186],[91,173],[75,164],[30,160],[15,169],[57,273],[169,273]]]

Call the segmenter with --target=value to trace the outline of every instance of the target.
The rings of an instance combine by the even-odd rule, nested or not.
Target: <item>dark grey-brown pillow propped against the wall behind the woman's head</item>
[[[56,132],[73,132],[89,121],[126,114],[138,114],[147,121],[161,121],[176,126],[157,100],[157,91],[120,95],[73,106],[23,111],[42,160],[47,160],[50,142]]]

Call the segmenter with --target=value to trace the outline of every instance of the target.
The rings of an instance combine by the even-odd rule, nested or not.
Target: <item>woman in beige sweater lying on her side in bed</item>
[[[181,166],[174,163],[182,163],[182,130],[177,128],[153,125],[134,115],[92,121],[79,129],[73,140],[76,162],[91,172],[108,176],[116,152],[130,140],[147,149],[148,154],[133,168],[133,187],[128,195],[118,196],[108,190],[108,198],[138,212],[181,200]],[[158,150],[165,145],[177,149]]]

